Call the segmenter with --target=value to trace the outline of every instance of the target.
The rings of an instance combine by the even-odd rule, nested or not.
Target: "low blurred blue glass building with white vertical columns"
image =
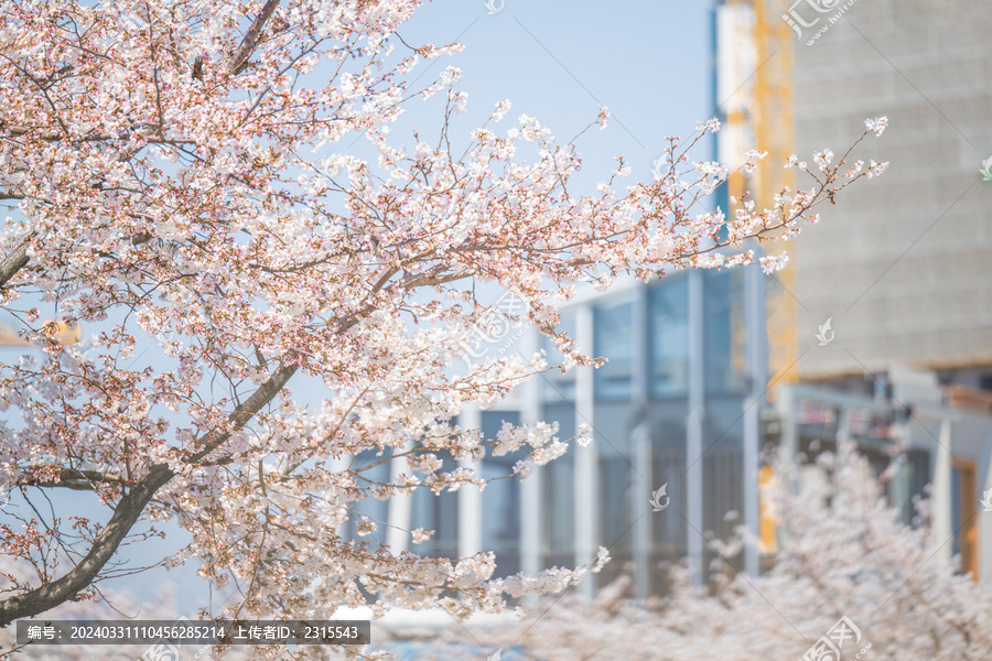
[[[755,532],[758,527],[767,381],[762,284],[756,267],[700,270],[650,284],[628,281],[563,305],[562,327],[608,362],[567,375],[552,370],[493,409],[466,411],[459,423],[492,438],[505,422],[554,421],[563,440],[584,423],[594,442],[572,444],[525,481],[500,479],[482,494],[418,491],[388,505],[365,503],[363,511],[396,525],[379,532],[380,541],[450,557],[493,551],[497,576],[575,566],[606,546],[613,562],[582,584],[587,594],[622,571],[633,574],[639,596],[664,593],[665,563],[683,560],[704,575],[716,557],[707,537],[726,539],[742,520]],[[537,343],[531,332],[514,350],[529,356]],[[553,349],[543,348],[554,362]],[[486,478],[508,476],[527,456],[486,456],[473,467]],[[445,463],[445,470],[457,466],[450,456]],[[750,475],[745,465],[754,467]],[[388,479],[389,469],[382,465],[368,477]],[[664,509],[655,513],[651,497],[662,486],[657,502]],[[403,530],[416,528],[436,532],[410,546]],[[756,553],[750,562],[756,571]]]

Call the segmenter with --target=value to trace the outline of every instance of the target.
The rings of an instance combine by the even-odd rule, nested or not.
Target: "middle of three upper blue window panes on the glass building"
[[[651,390],[684,395],[689,388],[689,279],[666,278],[649,292]]]

